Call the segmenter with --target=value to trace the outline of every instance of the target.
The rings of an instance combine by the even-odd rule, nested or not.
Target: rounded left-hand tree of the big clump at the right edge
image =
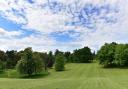
[[[110,44],[105,43],[105,45],[103,45],[98,51],[97,58],[100,64],[102,64],[104,67],[111,67],[115,65],[114,55],[116,45],[117,44],[115,42]]]

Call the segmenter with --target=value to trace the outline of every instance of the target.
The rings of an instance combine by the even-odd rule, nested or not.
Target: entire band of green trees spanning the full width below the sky
[[[89,47],[72,53],[58,49],[54,53],[36,52],[31,47],[19,52],[0,51],[0,71],[16,69],[22,75],[33,75],[53,66],[56,71],[63,71],[66,63],[91,63],[94,59],[104,67],[128,67],[128,44],[105,43],[96,54]]]

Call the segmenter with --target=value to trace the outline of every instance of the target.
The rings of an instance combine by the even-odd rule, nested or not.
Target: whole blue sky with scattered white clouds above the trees
[[[72,51],[128,43],[128,0],[0,0],[0,49]]]

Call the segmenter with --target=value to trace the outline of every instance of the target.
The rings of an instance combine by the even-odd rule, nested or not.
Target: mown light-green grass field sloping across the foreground
[[[128,69],[104,69],[98,63],[67,64],[37,79],[0,78],[0,89],[128,89]]]

